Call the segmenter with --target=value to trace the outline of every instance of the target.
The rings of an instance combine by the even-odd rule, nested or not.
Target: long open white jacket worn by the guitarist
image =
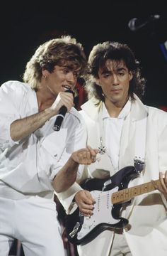
[[[139,178],[130,181],[130,187],[156,180],[159,178],[159,171],[164,173],[167,170],[167,113],[154,107],[144,106],[139,98],[134,96],[136,100],[132,102],[131,112],[122,127],[119,169],[134,164],[135,131],[138,121],[144,118],[147,118],[146,156],[144,171]],[[100,137],[98,114],[101,105],[95,107],[95,102],[93,98],[86,102],[81,107],[81,114],[87,124],[88,145],[98,148]],[[112,173],[113,166],[107,154],[104,154],[100,161],[91,164],[79,174],[79,181],[88,176],[105,178]],[[67,212],[74,194],[80,189],[79,185],[74,183],[68,191],[59,194],[59,199]],[[133,256],[167,255],[166,200],[159,191],[137,196],[122,214],[131,225],[131,229],[124,233]],[[96,256],[109,255],[112,238],[113,232],[103,231],[92,242],[81,246],[83,249],[81,255],[90,255],[90,252]]]

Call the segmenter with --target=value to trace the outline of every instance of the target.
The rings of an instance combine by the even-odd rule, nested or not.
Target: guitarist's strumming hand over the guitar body
[[[96,201],[93,199],[89,191],[81,190],[76,193],[75,201],[84,216],[90,217],[93,215],[93,204],[96,203]]]

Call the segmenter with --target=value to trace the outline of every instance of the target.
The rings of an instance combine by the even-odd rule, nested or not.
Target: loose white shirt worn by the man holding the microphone
[[[52,117],[20,142],[13,142],[10,125],[38,112],[36,93],[29,85],[8,81],[0,87],[0,192],[4,186],[21,193],[53,191],[52,179],[73,151],[86,146],[85,123],[76,109],[64,117],[59,132]]]

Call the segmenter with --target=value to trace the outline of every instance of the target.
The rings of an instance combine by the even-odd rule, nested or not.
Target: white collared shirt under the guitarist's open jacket
[[[122,124],[125,117],[127,117],[129,114],[130,108],[131,101],[128,100],[118,117],[110,117],[104,103],[102,106],[103,127],[105,134],[104,141],[107,149],[106,153],[110,157],[115,171],[118,171]]]

